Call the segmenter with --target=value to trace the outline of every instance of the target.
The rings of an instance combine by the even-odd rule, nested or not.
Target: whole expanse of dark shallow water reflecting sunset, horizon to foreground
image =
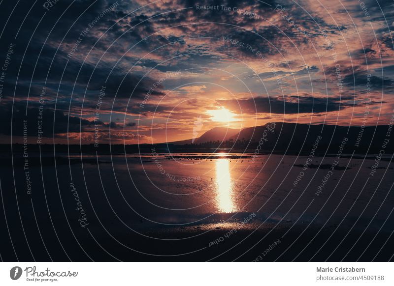
[[[96,253],[95,260],[111,260],[100,250],[103,246],[124,260],[151,259],[138,251],[168,257],[199,249],[204,251],[188,259],[206,260],[216,257],[209,244],[231,230],[238,232],[215,250],[217,255],[225,253],[225,260],[236,259],[238,251],[226,250],[256,231],[251,236],[256,242],[262,237],[268,244],[272,239],[288,239],[281,244],[281,251],[292,247],[282,257],[285,261],[298,257],[304,242],[313,241],[306,245],[310,249],[305,255],[309,250],[320,251],[321,239],[332,235],[327,250],[322,250],[325,254],[316,259],[326,259],[340,245],[337,256],[331,257],[340,260],[360,237],[363,247],[375,237],[375,242],[380,241],[370,245],[377,247],[371,253],[389,245],[387,239],[394,230],[390,161],[380,161],[380,169],[371,175],[373,157],[340,158],[330,172],[334,157],[314,157],[310,167],[303,169],[295,165],[303,166],[307,156],[259,155],[253,162],[253,154],[243,154],[249,157],[242,159],[226,157],[240,154],[173,155],[90,154],[82,157],[83,165],[73,161],[70,166],[59,158],[57,165],[51,165],[50,156],[33,164],[30,157],[31,194],[27,194],[23,164],[14,160],[14,169],[3,164],[4,233],[20,240],[18,258],[24,260],[32,259],[30,249],[34,258],[48,260],[45,247],[57,259],[68,260],[61,244],[72,260],[89,260],[85,250]],[[71,157],[76,160],[80,155]],[[307,238],[297,240],[302,234]],[[2,255],[15,259],[8,244],[3,244]],[[124,253],[124,245],[132,251]],[[254,259],[255,252],[248,250],[255,245],[243,242],[244,259]],[[357,259],[360,253],[348,258]]]

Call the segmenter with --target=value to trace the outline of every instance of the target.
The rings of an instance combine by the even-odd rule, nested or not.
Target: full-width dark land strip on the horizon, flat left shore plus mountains
[[[394,153],[394,139],[389,125],[378,126],[339,126],[339,125],[312,125],[286,122],[272,122],[262,126],[248,127],[242,130],[225,127],[215,127],[194,140],[188,139],[177,142],[155,144],[29,144],[31,152],[219,152],[227,149],[232,152],[257,152],[280,154],[309,154],[316,145],[316,152],[320,154],[336,155],[342,153],[352,154],[379,154]],[[345,144],[343,142],[345,141]],[[341,145],[343,145],[341,147]],[[40,150],[39,148],[40,147]],[[56,147],[56,148],[55,148]],[[23,152],[22,144],[3,144],[2,153]],[[381,157],[381,156],[380,156]],[[379,157],[379,158],[380,158]],[[390,159],[390,158],[386,158]],[[386,160],[385,159],[385,160]],[[86,159],[85,159],[86,161]]]

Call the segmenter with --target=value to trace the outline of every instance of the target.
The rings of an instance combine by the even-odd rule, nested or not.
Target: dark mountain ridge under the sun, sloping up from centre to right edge
[[[390,136],[387,136],[389,130],[388,125],[349,127],[272,122],[240,131],[215,127],[197,138],[194,143],[185,140],[173,144],[247,149],[256,149],[260,145],[259,149],[262,151],[283,153],[308,152],[318,139],[319,152],[336,154],[345,141],[343,152],[380,153],[383,150],[385,154],[389,154],[394,150],[393,142],[390,142]]]

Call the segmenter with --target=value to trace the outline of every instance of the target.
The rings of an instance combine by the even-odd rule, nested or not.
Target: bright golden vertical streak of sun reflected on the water
[[[228,159],[216,160],[216,201],[220,212],[234,212],[235,206],[232,200],[233,182],[230,175]]]

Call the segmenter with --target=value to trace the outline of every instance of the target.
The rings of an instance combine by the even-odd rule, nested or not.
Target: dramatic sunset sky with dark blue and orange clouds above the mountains
[[[23,120],[29,143],[39,130],[47,143],[94,143],[95,130],[158,143],[393,115],[393,0],[48,3],[0,4],[3,143],[21,142]]]

